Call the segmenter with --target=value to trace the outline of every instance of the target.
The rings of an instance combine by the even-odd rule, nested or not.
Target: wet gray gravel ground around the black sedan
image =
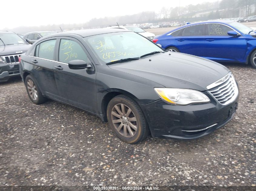
[[[0,185],[255,186],[256,69],[225,66],[240,86],[237,113],[186,142],[128,145],[96,116],[52,100],[33,104],[20,78],[1,83]]]

